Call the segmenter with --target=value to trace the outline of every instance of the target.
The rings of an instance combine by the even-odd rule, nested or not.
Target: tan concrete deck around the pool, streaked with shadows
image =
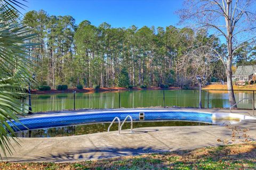
[[[171,110],[171,109],[170,109]],[[175,110],[177,110],[175,108]],[[223,109],[180,109],[210,113],[229,113]],[[233,111],[248,115],[243,111]],[[239,113],[238,113],[239,112]],[[66,114],[67,112],[65,112]],[[41,116],[32,115],[32,116]],[[226,126],[172,126],[124,130],[57,138],[19,138],[13,144],[8,162],[77,162],[118,156],[196,149],[256,140],[256,120]],[[233,134],[235,132],[235,137]],[[14,143],[12,141],[12,143]]]

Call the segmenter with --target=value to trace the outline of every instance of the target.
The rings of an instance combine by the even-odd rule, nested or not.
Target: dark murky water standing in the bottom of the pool
[[[61,126],[55,128],[43,128],[35,130],[25,130],[15,132],[16,137],[20,138],[52,138],[52,137],[69,137],[74,135],[92,134],[107,132],[110,123],[94,123],[94,124],[79,124],[71,126]],[[138,121],[133,122],[133,131],[141,132],[138,128],[152,128],[162,126],[207,126],[210,123],[188,122],[188,121]],[[130,133],[130,122],[124,123],[122,126],[122,134]],[[118,131],[118,123],[114,123],[110,131]],[[155,131],[157,131],[155,129]]]

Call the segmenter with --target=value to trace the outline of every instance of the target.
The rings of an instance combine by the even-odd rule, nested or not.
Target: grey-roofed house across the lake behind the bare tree
[[[256,75],[256,65],[241,65],[237,67],[235,74],[232,76],[232,80],[237,82],[249,82],[252,80],[253,75]]]

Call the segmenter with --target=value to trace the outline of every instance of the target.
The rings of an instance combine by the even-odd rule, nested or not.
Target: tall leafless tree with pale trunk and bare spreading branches
[[[229,90],[230,105],[236,103],[232,70],[234,54],[237,49],[255,42],[256,5],[255,0],[186,0],[185,8],[178,11],[181,24],[194,28],[207,28],[220,40],[225,40],[227,54],[214,52],[222,61]]]

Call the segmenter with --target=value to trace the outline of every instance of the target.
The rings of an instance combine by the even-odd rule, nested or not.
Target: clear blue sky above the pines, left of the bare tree
[[[102,22],[112,27],[177,26],[175,14],[182,0],[27,0],[26,13],[44,10],[50,15],[71,15],[76,23],[89,20],[98,26]]]

